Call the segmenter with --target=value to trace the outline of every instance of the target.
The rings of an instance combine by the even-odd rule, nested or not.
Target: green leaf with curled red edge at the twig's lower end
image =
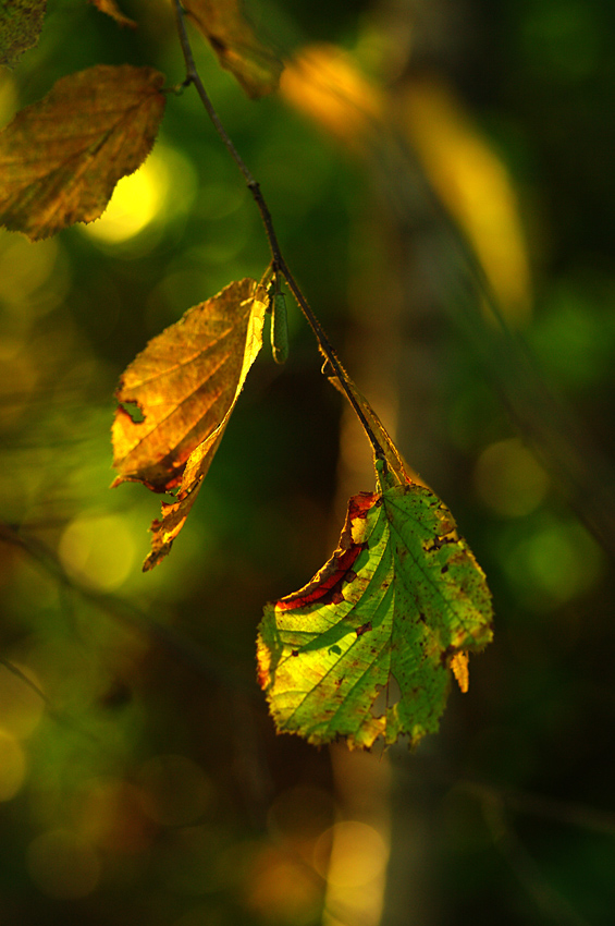
[[[451,668],[492,638],[484,574],[445,505],[377,464],[380,491],[350,499],[340,547],[304,588],[268,605],[259,681],[279,732],[310,743],[435,732]],[[467,684],[465,685],[467,687]]]

